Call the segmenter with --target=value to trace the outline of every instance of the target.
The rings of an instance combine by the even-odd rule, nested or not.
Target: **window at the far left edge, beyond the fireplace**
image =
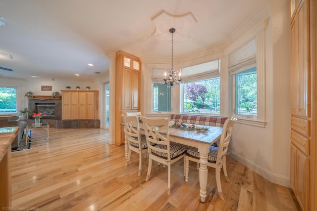
[[[0,114],[16,113],[16,87],[0,86]]]

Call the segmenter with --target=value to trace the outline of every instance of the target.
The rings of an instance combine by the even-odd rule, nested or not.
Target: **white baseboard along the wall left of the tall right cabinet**
[[[244,166],[248,167],[249,169],[252,169],[254,172],[260,174],[263,176],[265,179],[267,179],[270,182],[273,182],[275,184],[283,185],[285,187],[291,187],[290,185],[290,178],[286,176],[281,176],[278,174],[274,174],[266,169],[263,169],[259,165],[241,157],[240,155],[236,154],[235,152],[230,152],[230,157],[233,158],[234,160],[238,161],[239,163],[243,164]]]

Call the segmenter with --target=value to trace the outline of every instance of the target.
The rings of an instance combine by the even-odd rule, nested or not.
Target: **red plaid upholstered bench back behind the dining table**
[[[226,117],[217,116],[199,116],[199,115],[184,115],[184,114],[172,114],[170,121],[175,123],[181,122],[185,124],[203,125],[203,126],[214,126],[223,127]],[[217,141],[218,142],[218,141]],[[217,146],[217,142],[213,146]]]

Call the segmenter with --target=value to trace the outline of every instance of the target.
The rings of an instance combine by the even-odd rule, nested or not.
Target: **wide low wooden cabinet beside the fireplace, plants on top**
[[[96,90],[61,90],[62,120],[98,119],[98,91]]]

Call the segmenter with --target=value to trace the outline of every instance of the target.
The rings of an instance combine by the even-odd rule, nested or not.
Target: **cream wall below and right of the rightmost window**
[[[290,187],[290,27],[289,2],[270,2],[266,28],[266,125],[237,124],[233,157],[271,182]]]

